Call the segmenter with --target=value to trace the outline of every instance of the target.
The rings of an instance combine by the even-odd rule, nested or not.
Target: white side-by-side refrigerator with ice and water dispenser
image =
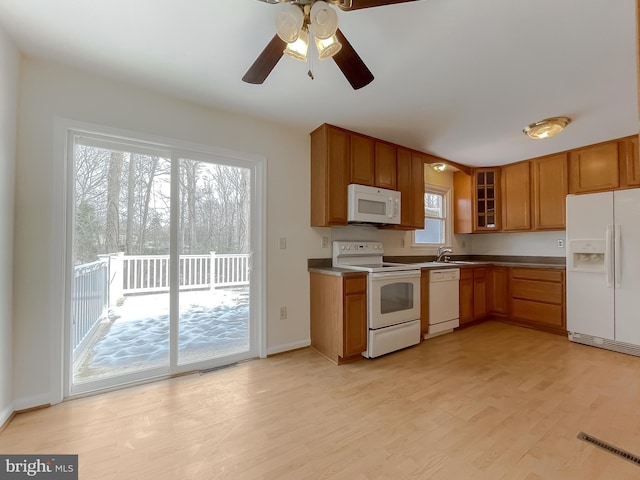
[[[569,339],[640,355],[640,189],[567,196]]]

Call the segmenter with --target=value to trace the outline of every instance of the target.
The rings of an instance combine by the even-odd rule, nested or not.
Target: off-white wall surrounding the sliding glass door
[[[128,129],[267,157],[268,353],[309,344],[307,258],[325,256],[320,231],[309,227],[309,132],[206,109],[136,86],[35,59],[22,63],[16,175],[15,403],[48,403],[50,245],[56,198],[51,178],[56,117]],[[1,217],[0,217],[1,219]],[[287,249],[279,249],[279,238]],[[329,250],[330,251],[330,250]],[[279,319],[287,306],[288,318]]]

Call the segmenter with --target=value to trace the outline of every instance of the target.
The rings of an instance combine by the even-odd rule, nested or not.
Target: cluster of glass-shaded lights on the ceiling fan
[[[296,60],[307,61],[311,30],[320,60],[333,57],[342,48],[336,37],[338,15],[322,0],[312,4],[287,3],[276,16],[276,33],[287,46],[284,50]]]

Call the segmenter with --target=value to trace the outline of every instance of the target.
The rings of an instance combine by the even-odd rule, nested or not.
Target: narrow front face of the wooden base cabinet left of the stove
[[[365,276],[344,279],[343,358],[367,349],[366,288]]]

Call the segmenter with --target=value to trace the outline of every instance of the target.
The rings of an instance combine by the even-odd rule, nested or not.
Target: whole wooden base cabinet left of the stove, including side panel
[[[367,349],[367,275],[310,272],[311,346],[336,363]]]

